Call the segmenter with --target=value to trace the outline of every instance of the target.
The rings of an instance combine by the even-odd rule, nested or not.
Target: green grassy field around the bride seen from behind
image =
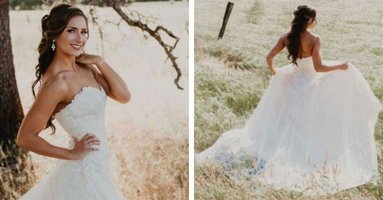
[[[233,10],[222,40],[217,40],[227,1],[195,1],[195,153],[222,133],[242,128],[269,84],[266,56],[290,30],[300,4],[317,9],[314,33],[321,37],[322,59],[348,61],[383,103],[383,7],[372,1],[231,1]],[[283,50],[274,66],[290,63]],[[195,199],[381,199],[383,198],[383,112],[375,126],[377,182],[332,195],[305,196],[288,190],[257,191],[251,180],[238,182],[222,166],[195,166]]]

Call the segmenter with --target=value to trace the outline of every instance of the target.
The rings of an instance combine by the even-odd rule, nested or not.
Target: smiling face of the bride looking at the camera
[[[83,16],[77,15],[69,19],[67,26],[56,39],[57,51],[71,56],[79,56],[87,41],[88,30]]]

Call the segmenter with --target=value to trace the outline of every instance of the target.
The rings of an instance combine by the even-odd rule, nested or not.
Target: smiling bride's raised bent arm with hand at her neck
[[[76,62],[87,64],[93,71],[97,73],[100,82],[103,82],[106,94],[119,103],[128,103],[131,98],[130,91],[126,86],[124,80],[108,65],[108,63],[100,56],[85,54],[83,58],[77,58]],[[101,63],[101,64],[100,64]],[[92,65],[95,64],[101,73]]]

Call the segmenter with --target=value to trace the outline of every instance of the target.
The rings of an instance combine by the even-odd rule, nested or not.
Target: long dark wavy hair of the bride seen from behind
[[[317,11],[310,7],[309,5],[300,5],[296,10],[294,10],[294,19],[291,22],[291,30],[287,34],[288,39],[288,59],[292,58],[291,63],[297,64],[299,46],[300,46],[300,35],[306,31],[306,27],[310,18],[313,18],[314,22],[315,17],[317,16]]]

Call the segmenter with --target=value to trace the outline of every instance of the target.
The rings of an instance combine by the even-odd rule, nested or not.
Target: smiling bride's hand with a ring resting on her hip
[[[100,145],[100,140],[94,135],[87,133],[80,141],[73,137],[75,147],[70,150],[72,160],[80,160],[87,153],[91,151],[99,151],[99,148],[92,147],[93,145]]]

